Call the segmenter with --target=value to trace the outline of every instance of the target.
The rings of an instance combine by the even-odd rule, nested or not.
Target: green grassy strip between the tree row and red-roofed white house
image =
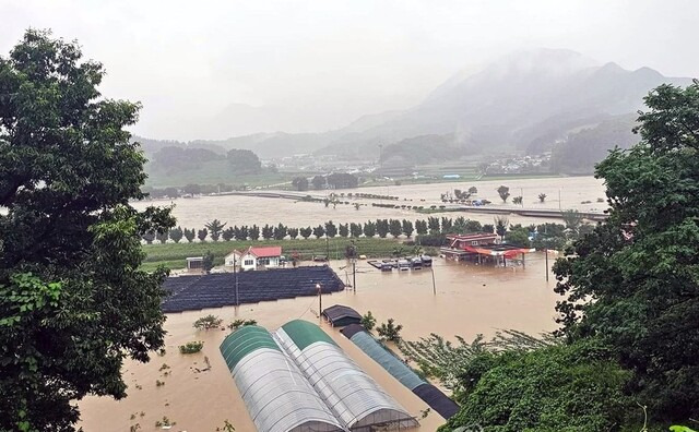
[[[333,260],[344,259],[345,248],[354,241],[357,253],[368,259],[390,257],[394,251],[411,254],[413,245],[406,245],[400,239],[392,238],[344,238],[332,239],[295,239],[295,240],[260,240],[260,241],[206,241],[180,242],[164,244],[144,244],[142,247],[146,257],[141,266],[144,271],[154,271],[158,265],[170,269],[185,268],[188,256],[202,256],[208,251],[214,254],[214,265],[223,265],[224,257],[234,249],[242,250],[251,245],[281,245],[282,253],[291,259],[298,254],[301,260],[312,260],[313,256],[330,255]],[[436,255],[436,248],[423,248],[424,253]]]

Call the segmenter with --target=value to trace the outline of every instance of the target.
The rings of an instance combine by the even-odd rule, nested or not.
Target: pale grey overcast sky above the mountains
[[[698,17],[697,0],[0,0],[0,53],[50,27],[105,64],[104,95],[143,103],[135,133],[223,139],[407,108],[523,48],[699,76]]]

